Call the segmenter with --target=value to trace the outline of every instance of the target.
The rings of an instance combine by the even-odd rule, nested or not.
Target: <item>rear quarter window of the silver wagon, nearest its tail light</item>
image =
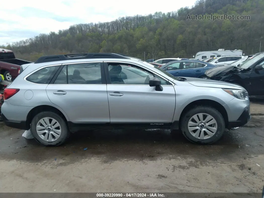
[[[60,66],[44,67],[26,78],[27,81],[37,84],[49,84]]]

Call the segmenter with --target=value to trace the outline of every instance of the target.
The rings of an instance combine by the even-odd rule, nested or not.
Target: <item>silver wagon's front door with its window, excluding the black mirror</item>
[[[107,83],[107,96],[111,124],[171,125],[175,111],[175,89],[172,85],[139,66],[108,62],[105,67],[110,81]],[[125,79],[121,72],[125,73]],[[149,86],[149,79],[153,77],[161,79],[163,91]]]

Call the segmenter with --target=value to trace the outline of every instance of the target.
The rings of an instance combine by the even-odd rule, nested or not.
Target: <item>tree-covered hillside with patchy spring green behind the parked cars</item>
[[[199,0],[192,8],[77,24],[3,48],[29,61],[48,54],[84,52],[115,52],[141,59],[144,52],[146,59],[191,58],[199,51],[220,48],[241,49],[248,55],[259,52],[261,40],[264,45],[263,11],[264,0]],[[250,15],[251,20],[186,20],[188,14],[206,13]]]

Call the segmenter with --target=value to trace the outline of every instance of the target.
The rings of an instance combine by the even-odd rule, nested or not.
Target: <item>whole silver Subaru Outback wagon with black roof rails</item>
[[[193,143],[212,144],[225,128],[251,119],[241,86],[174,77],[115,53],[44,56],[22,65],[4,89],[1,116],[46,146],[93,128],[180,129]]]

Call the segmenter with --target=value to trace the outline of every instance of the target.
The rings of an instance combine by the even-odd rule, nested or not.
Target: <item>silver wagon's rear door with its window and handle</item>
[[[73,123],[110,123],[102,71],[102,62],[65,65],[53,84],[46,88],[50,101]]]

